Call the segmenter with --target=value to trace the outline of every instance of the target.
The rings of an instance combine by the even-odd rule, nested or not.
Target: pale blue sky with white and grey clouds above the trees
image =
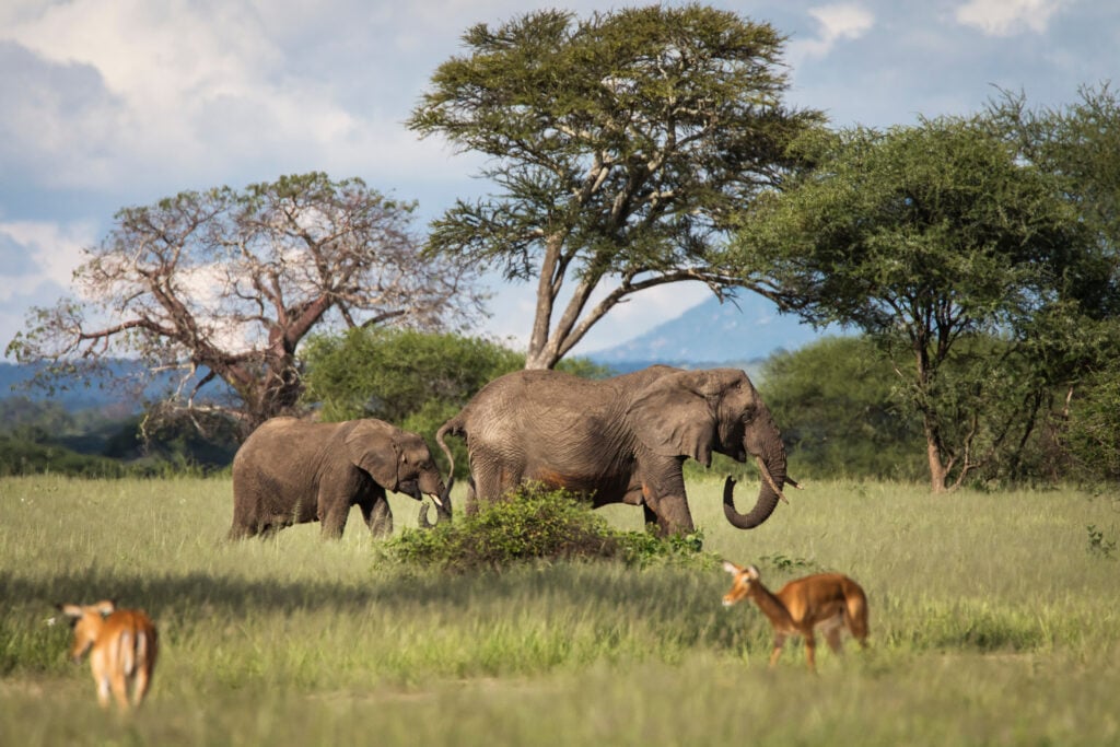
[[[281,175],[360,177],[419,203],[417,228],[484,194],[479,161],[403,122],[461,35],[601,0],[2,0],[0,349],[69,292],[122,207]],[[664,2],[680,6],[681,2]],[[969,114],[1000,90],[1063,106],[1120,85],[1116,0],[709,1],[787,37],[786,102],[834,127]],[[522,345],[533,288],[491,282],[478,330]],[[631,339],[710,298],[646,291],[576,348]]]

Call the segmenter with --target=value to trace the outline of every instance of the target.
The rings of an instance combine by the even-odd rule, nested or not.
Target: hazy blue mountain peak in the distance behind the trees
[[[757,366],[778,349],[794,351],[831,330],[814,330],[797,317],[777,312],[757,293],[743,293],[738,306],[712,297],[681,316],[615,347],[588,353],[596,363],[631,371],[651,363],[683,367]]]

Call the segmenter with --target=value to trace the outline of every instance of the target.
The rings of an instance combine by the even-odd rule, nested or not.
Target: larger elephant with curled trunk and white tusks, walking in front
[[[766,521],[782,496],[786,456],[769,410],[737,368],[651,366],[592,381],[557,371],[517,371],[484,386],[436,433],[463,436],[476,501],[493,501],[524,480],[591,496],[595,506],[642,505],[662,534],[693,531],[681,468],[712,452],[757,458],[763,482],[746,514],[725,504],[739,529]],[[454,473],[454,460],[451,464]]]

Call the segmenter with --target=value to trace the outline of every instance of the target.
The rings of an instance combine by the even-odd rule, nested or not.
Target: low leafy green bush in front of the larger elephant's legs
[[[385,542],[381,552],[398,562],[457,571],[571,559],[620,560],[640,567],[655,562],[715,566],[718,559],[703,554],[702,544],[699,533],[660,539],[613,530],[579,496],[528,485],[454,523],[432,530],[407,529]]]

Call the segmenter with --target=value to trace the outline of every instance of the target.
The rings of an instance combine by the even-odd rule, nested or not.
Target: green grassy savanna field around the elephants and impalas
[[[814,676],[790,645],[768,670],[765,619],[720,606],[718,569],[454,576],[376,562],[356,512],[340,542],[226,543],[227,479],[2,479],[0,745],[1120,744],[1120,492],[819,483],[741,532],[720,488],[689,485],[704,549],[772,587],[858,579],[871,651],[824,647]],[[102,597],[160,629],[129,717],[47,624]]]

